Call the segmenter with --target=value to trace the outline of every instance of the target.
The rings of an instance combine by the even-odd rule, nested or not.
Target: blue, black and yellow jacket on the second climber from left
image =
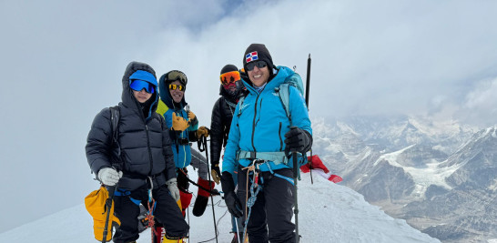
[[[167,127],[173,127],[173,112],[176,113],[176,116],[181,116],[188,120],[188,112],[185,110],[188,104],[185,101],[185,96],[183,96],[179,104],[175,103],[169,93],[167,85],[166,75],[161,76],[158,81],[160,100],[158,101],[159,108],[157,109],[157,113],[164,116]],[[169,130],[176,167],[188,167],[191,163],[191,147],[189,142],[197,141],[197,137],[195,136],[197,129],[198,120],[196,120],[194,124],[190,124],[190,126],[182,132],[174,131],[172,129]]]

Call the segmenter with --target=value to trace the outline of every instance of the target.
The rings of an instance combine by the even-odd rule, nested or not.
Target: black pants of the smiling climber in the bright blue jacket
[[[289,168],[278,169],[274,172],[284,177],[292,178],[293,176]],[[246,192],[249,192],[248,197],[250,197],[251,184],[249,180],[249,187],[246,187],[247,171],[238,170],[237,195],[242,202],[244,214],[247,203]],[[295,224],[291,222],[295,187],[286,179],[275,177],[270,172],[259,173],[259,184],[262,184],[262,188],[252,206],[247,226],[249,242],[295,242],[293,232]],[[247,212],[249,213],[249,209]]]

